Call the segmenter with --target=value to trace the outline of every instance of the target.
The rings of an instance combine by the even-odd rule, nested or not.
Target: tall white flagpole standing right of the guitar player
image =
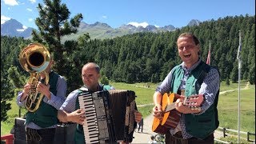
[[[239,46],[238,46],[238,143],[240,143],[240,76],[241,76],[241,48],[242,48],[242,40],[241,40],[241,31],[239,30]]]

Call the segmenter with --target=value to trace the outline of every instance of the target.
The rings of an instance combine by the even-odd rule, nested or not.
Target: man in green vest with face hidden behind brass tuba
[[[32,49],[34,47],[43,47],[40,44],[30,44],[26,48]],[[31,48],[30,48],[31,47]],[[25,48],[25,49],[26,49]],[[45,49],[45,47],[43,47]],[[46,50],[46,49],[45,49]],[[29,53],[26,50],[26,53]],[[37,50],[34,50],[37,51]],[[42,54],[46,54],[43,50]],[[35,52],[35,53],[38,53]],[[47,51],[48,52],[48,51]],[[49,53],[49,52],[48,52]],[[24,54],[26,55],[26,54]],[[28,55],[33,55],[28,54]],[[32,61],[32,58],[35,56],[30,56],[31,58],[27,58],[26,61]],[[45,58],[46,59],[46,58]],[[49,58],[50,61],[47,62],[48,66],[42,72],[38,72],[38,80],[36,80],[36,86],[33,86],[30,81],[26,83],[23,87],[23,90],[18,93],[17,104],[18,106],[26,106],[28,112],[26,113],[26,142],[28,144],[42,144],[42,143],[54,143],[54,134],[57,127],[57,114],[58,109],[62,106],[62,103],[66,99],[66,80],[61,75],[55,73],[51,70],[51,66],[54,63],[53,58]],[[35,60],[34,61],[38,61]],[[33,62],[28,62],[27,66]],[[22,64],[22,62],[21,62]],[[24,68],[24,66],[22,66]],[[38,66],[37,66],[38,68]],[[31,74],[32,75],[32,74]],[[48,79],[45,84],[45,79]],[[35,88],[34,88],[35,87]],[[38,94],[42,94],[42,101],[36,101],[34,98],[30,98],[33,96],[31,91],[33,92],[35,89],[36,94],[34,97],[37,97]],[[28,98],[32,100],[28,100]],[[35,98],[36,99],[36,98]],[[32,103],[29,103],[32,102]],[[40,102],[36,109],[30,110],[27,105],[37,105],[33,102]],[[29,103],[29,104],[28,104]]]

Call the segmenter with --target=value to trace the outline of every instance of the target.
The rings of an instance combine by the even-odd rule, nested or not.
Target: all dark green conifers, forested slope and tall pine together
[[[255,16],[227,16],[170,32],[142,32],[104,40],[90,39],[90,34],[82,34],[76,40],[61,42],[64,35],[77,32],[82,14],[68,21],[70,12],[66,4],[61,4],[60,0],[44,2],[47,6],[38,4],[39,17],[35,22],[39,32],[33,31],[33,39],[1,36],[1,108],[4,110],[10,110],[10,105],[4,102],[17,95],[14,88],[22,87],[29,77],[18,62],[18,54],[31,42],[46,45],[54,57],[53,69],[66,78],[70,92],[82,86],[81,69],[86,62],[98,63],[105,80],[162,82],[170,70],[182,62],[176,41],[184,32],[198,37],[200,58],[205,62],[211,43],[210,65],[218,67],[222,81],[238,82],[236,58],[238,31],[241,30],[241,78],[255,83]],[[1,109],[1,121],[6,119],[4,110]]]

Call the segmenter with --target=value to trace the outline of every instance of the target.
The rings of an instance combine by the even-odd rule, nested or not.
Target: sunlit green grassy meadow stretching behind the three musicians
[[[226,86],[226,82],[221,83],[221,92],[230,90],[219,95],[218,99],[218,118],[221,127],[238,130],[238,83],[230,83]],[[122,82],[110,82],[116,89],[134,90],[136,94],[136,103],[138,110],[143,117],[151,114],[153,108],[153,94],[158,84],[154,83],[134,83],[126,84]],[[246,89],[244,89],[246,88]],[[1,135],[10,134],[11,128],[14,126],[14,118],[18,117],[18,106],[16,97],[11,101],[12,109],[8,111],[9,119],[1,122]],[[254,133],[255,131],[255,85],[246,86],[246,82],[240,84],[240,105],[241,105],[241,131]],[[26,110],[22,108],[22,116],[26,114]],[[234,134],[235,135],[235,134]],[[246,136],[245,136],[246,137]]]

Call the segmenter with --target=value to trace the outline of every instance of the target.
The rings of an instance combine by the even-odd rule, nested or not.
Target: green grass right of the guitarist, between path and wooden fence
[[[238,129],[238,91],[221,94],[218,99],[220,126]],[[240,123],[242,131],[255,130],[255,89],[241,90]]]

